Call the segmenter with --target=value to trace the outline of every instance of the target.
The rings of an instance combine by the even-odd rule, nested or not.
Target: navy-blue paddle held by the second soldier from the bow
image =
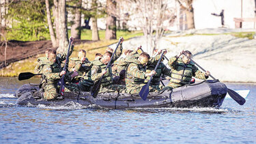
[[[155,67],[154,71],[156,71],[156,69],[158,68],[160,61],[162,61],[162,57],[163,57],[164,53],[165,52],[162,52],[162,55],[161,55],[160,59],[158,60],[158,63],[156,64],[156,67]],[[139,91],[139,96],[142,98],[142,100],[146,100],[147,99],[147,95],[150,92],[150,88],[149,88],[150,87],[150,82],[151,82],[153,76],[154,75],[150,76],[150,81],[148,81],[147,84],[144,85],[141,88],[141,91]]]

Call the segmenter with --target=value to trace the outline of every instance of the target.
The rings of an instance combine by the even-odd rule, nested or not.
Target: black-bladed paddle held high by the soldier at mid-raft
[[[115,51],[114,51],[113,55],[111,56],[111,59],[110,59],[108,65],[106,66],[105,70],[107,70],[109,68],[109,66],[111,66],[112,59],[113,59],[113,57],[115,55],[115,52],[117,51],[117,48],[118,48],[121,41],[122,41],[122,37],[119,38],[119,42],[117,44],[117,47],[115,48]],[[100,91],[100,83],[102,81],[103,76],[104,76],[104,74],[102,76],[100,76],[100,80],[96,81],[96,83],[94,84],[94,87],[92,87],[92,89],[91,89],[91,96],[94,97],[94,98],[97,97],[98,92]]]

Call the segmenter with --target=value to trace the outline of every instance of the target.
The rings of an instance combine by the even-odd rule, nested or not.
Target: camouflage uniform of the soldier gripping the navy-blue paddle
[[[151,58],[148,65],[155,63],[158,59],[160,59],[160,55]],[[147,78],[145,76],[147,66],[143,67],[137,58],[130,58],[128,62],[130,63],[126,69],[126,93],[139,93],[141,88],[145,85],[144,81]],[[150,91],[154,91],[151,86]]]

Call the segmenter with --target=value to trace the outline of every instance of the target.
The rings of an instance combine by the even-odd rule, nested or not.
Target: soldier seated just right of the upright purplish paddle
[[[76,70],[76,72],[79,73],[78,76],[72,79],[72,83],[79,83],[84,73],[87,73],[89,70],[91,70],[91,62],[87,59],[85,50],[79,50],[78,57],[70,58],[69,70]]]

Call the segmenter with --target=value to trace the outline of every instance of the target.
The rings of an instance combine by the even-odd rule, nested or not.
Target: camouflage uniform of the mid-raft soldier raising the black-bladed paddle
[[[119,45],[115,55],[113,56],[113,61],[118,59],[122,54],[122,44]],[[113,62],[112,61],[112,62]],[[96,82],[101,77],[101,72],[106,69],[106,65],[102,63],[100,60],[95,60],[91,67],[91,80]],[[100,83],[100,91],[102,92],[117,92],[117,90],[125,89],[124,85],[113,85],[113,74],[111,67],[107,69],[106,74],[104,74],[102,81]]]

